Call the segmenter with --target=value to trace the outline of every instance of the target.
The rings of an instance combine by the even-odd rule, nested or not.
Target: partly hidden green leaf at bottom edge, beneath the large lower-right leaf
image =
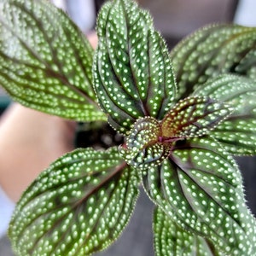
[[[160,207],[154,210],[154,251],[156,256],[220,256],[212,241],[180,228]]]

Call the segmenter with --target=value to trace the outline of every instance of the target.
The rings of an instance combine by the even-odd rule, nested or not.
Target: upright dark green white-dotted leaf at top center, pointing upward
[[[176,85],[166,44],[148,12],[115,0],[103,7],[97,33],[95,89],[110,125],[125,134],[139,117],[162,119]]]

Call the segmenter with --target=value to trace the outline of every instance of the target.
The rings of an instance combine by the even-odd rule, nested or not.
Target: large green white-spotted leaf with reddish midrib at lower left
[[[137,195],[137,174],[117,148],[66,154],[18,202],[9,227],[15,253],[77,256],[102,250],[125,228]]]

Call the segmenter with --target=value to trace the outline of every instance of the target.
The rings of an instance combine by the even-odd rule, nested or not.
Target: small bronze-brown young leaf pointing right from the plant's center
[[[206,135],[231,111],[232,108],[228,104],[217,102],[207,96],[185,98],[177,102],[162,120],[163,140]]]

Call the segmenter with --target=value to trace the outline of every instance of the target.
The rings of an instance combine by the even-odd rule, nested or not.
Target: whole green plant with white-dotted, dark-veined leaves
[[[207,26],[169,54],[147,11],[113,0],[98,16],[94,53],[46,1],[3,0],[0,11],[9,95],[66,119],[108,121],[124,137],[108,150],[78,148],[39,175],[9,226],[15,253],[108,247],[142,184],[155,204],[156,255],[256,255],[232,157],[255,154],[255,28]]]

